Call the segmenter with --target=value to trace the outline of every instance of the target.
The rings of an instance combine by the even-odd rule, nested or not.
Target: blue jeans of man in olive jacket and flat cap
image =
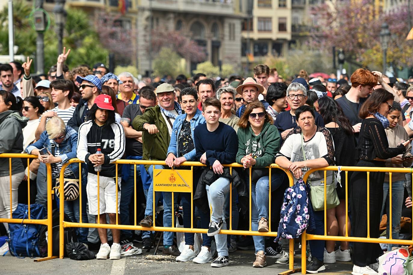
[[[156,169],[164,169],[162,165],[155,165]],[[145,216],[152,216],[153,215],[153,165],[148,168],[148,173],[152,178],[151,185],[148,190],[148,196],[146,200],[146,209],[145,209]],[[171,192],[162,192],[164,196],[164,226],[165,227],[172,227],[172,193]],[[155,202],[159,201],[159,197],[161,197],[161,192],[155,192]],[[178,194],[174,194],[173,201],[176,202],[178,199]],[[142,239],[145,237],[150,237],[149,231],[144,231],[142,233]],[[164,245],[172,245],[173,244],[173,232],[164,232]]]

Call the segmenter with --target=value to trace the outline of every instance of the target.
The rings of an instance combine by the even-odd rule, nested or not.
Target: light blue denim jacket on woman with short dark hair
[[[186,120],[186,114],[182,114],[182,115],[178,115],[175,119],[175,122],[173,122],[171,142],[169,143],[168,152],[166,153],[166,156],[168,156],[169,153],[173,153],[176,157],[179,157],[178,156],[178,134],[185,120]],[[199,124],[204,124],[204,123],[205,123],[205,118],[202,115],[202,112],[197,109],[195,116],[190,120],[192,140],[194,140],[195,127],[197,127]],[[195,141],[194,141],[194,145],[195,145]],[[195,149],[185,154],[184,157],[187,161],[195,161],[196,159]]]

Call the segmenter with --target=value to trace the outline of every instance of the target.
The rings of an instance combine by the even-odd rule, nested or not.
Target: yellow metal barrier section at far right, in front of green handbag
[[[301,235],[301,273],[306,274],[306,241],[307,240],[325,240],[325,241],[341,241],[341,242],[373,242],[373,243],[390,243],[390,244],[404,244],[404,245],[413,245],[412,240],[394,240],[392,238],[392,174],[393,173],[408,173],[412,174],[412,168],[390,168],[390,167],[353,167],[353,166],[340,166],[340,171],[345,172],[345,182],[346,182],[346,233],[345,236],[328,236],[327,235],[327,211],[324,211],[324,235],[311,235],[304,232]],[[324,182],[327,181],[327,171],[338,171],[337,166],[328,166],[317,169],[310,169],[303,176],[303,180],[306,182],[310,174],[315,171],[324,171]],[[349,218],[349,187],[347,183],[348,172],[357,171],[357,172],[366,172],[367,173],[367,237],[351,237],[348,232],[348,218]],[[379,239],[370,237],[370,172],[389,172],[389,224],[390,224],[390,233],[389,239]],[[344,180],[342,179],[342,182]],[[379,207],[379,206],[377,206]],[[380,205],[381,207],[381,205]],[[324,209],[327,209],[327,185],[324,185]],[[413,207],[412,207],[413,213]],[[356,226],[356,225],[351,225]]]

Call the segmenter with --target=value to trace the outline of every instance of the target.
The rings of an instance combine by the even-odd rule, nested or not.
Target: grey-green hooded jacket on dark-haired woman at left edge
[[[23,131],[27,118],[17,111],[0,113],[0,154],[21,153],[23,151]],[[19,158],[12,158],[12,174],[24,172],[23,163]],[[9,159],[0,157],[0,176],[9,176]]]

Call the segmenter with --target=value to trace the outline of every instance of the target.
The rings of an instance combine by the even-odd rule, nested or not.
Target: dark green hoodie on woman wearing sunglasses
[[[274,157],[280,150],[281,136],[277,127],[265,122],[261,133],[258,136],[254,134],[251,126],[239,128],[238,136],[238,153],[237,162],[250,153],[256,160],[253,168],[263,168],[274,163]]]

